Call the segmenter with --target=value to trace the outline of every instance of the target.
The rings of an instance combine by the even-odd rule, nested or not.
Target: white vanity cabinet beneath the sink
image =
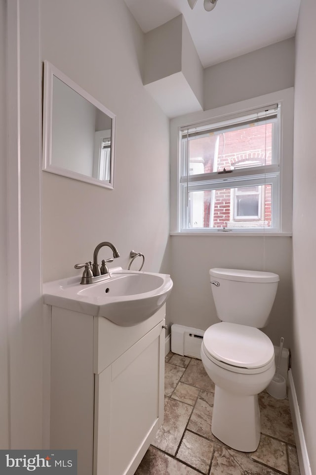
[[[51,309],[50,448],[78,475],[133,475],[163,421],[165,305],[144,322]]]

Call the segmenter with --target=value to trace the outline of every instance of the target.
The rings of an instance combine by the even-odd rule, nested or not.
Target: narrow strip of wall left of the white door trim
[[[6,269],[6,8],[0,0],[0,260]],[[8,447],[8,314],[6,271],[0,273],[0,449]]]

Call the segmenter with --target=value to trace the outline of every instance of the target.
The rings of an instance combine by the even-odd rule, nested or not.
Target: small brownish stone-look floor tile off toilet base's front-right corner
[[[261,434],[259,447],[250,454],[250,458],[288,474],[286,445],[280,440]]]

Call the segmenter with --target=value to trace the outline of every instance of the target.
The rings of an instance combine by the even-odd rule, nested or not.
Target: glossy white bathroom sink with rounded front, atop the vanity
[[[44,303],[105,317],[120,326],[151,317],[167,300],[172,280],[167,274],[111,269],[111,278],[81,285],[81,277],[43,284]]]

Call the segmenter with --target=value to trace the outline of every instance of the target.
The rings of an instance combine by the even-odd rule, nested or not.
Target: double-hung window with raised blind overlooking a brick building
[[[280,106],[179,130],[179,230],[279,231]]]

